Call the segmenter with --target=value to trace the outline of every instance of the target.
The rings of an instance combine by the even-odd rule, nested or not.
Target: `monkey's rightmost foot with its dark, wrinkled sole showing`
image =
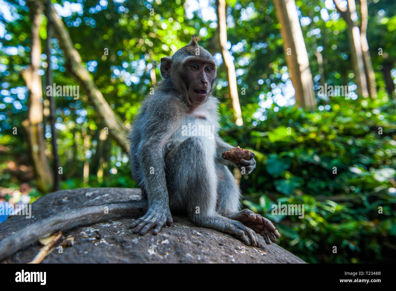
[[[250,209],[244,209],[231,215],[227,215],[227,217],[229,219],[240,221],[247,227],[254,230],[257,234],[260,234],[264,238],[267,245],[270,244],[270,240],[271,242],[276,242],[276,238],[281,237],[278,230],[276,230],[276,227],[271,221],[259,214],[254,213]]]

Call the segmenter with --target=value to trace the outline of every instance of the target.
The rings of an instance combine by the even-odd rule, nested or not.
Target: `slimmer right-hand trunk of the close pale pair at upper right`
[[[377,98],[377,87],[375,84],[375,74],[373,69],[373,63],[371,62],[369,43],[367,41],[367,22],[368,22],[368,11],[367,11],[367,0],[360,0],[360,16],[362,18],[360,25],[360,41],[362,42],[362,52],[364,68],[366,69],[366,80],[367,88],[371,98]]]

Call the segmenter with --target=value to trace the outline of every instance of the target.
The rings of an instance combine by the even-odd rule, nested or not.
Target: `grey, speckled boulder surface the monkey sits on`
[[[139,192],[128,188],[80,188],[47,194],[32,204],[31,219],[12,216],[1,223],[0,240],[49,215],[86,205],[137,199]],[[184,217],[173,215],[173,221],[156,236],[133,234],[130,219],[74,228],[63,233],[74,237],[74,245],[63,248],[63,253],[55,249],[43,263],[304,263],[276,243],[258,249],[222,232],[196,227]],[[29,262],[40,248],[38,242],[34,243],[2,263]]]

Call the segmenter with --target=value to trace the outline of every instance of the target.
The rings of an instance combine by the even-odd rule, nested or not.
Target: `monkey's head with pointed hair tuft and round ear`
[[[160,70],[189,107],[200,105],[213,91],[216,63],[209,51],[198,45],[197,36],[172,57],[163,57]]]

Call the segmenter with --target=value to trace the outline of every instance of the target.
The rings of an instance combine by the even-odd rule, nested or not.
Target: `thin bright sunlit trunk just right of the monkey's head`
[[[223,63],[227,70],[228,86],[230,88],[230,97],[232,102],[232,108],[235,114],[235,124],[242,126],[244,121],[242,119],[242,111],[239,103],[238,86],[236,83],[235,66],[232,61],[232,57],[227,45],[227,13],[226,13],[226,2],[225,0],[217,0],[217,21],[219,24],[219,39],[221,55],[223,55]]]

